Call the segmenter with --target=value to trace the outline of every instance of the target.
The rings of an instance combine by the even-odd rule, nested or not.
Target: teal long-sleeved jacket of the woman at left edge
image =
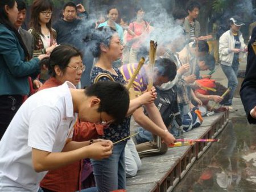
[[[25,60],[18,37],[0,24],[0,95],[28,95],[28,76],[40,67],[38,58]]]

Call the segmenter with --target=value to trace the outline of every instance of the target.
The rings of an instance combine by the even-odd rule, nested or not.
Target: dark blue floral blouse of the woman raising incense
[[[110,76],[112,76],[115,80],[115,82],[119,82],[121,84],[125,84],[125,80],[122,76],[122,73],[119,71],[118,68],[114,68],[115,72],[118,74],[118,76],[115,76],[114,74],[108,72],[108,70],[104,70],[102,68],[99,68],[97,66],[94,66],[92,69],[92,74],[90,76],[90,81],[93,84],[94,79],[98,76],[100,73],[108,73]],[[101,77],[98,81],[110,81],[108,77]],[[102,136],[102,139],[108,139],[112,142],[121,140],[127,136],[130,135],[130,116],[126,117],[121,124],[110,124],[108,128],[104,130],[104,136]]]

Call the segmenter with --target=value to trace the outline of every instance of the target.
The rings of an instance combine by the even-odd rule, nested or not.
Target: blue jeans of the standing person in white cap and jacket
[[[228,102],[224,103],[224,105],[230,106],[232,105],[232,99],[238,85],[237,73],[239,68],[239,62],[233,62],[232,66],[221,65],[221,68],[225,73],[225,76],[228,78],[228,87],[231,88],[229,100]]]

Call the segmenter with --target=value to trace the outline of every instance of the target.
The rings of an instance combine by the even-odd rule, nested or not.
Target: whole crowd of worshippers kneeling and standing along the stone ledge
[[[189,1],[173,12],[182,32],[158,44],[151,69],[144,44],[156,28],[143,6],[130,22],[112,6],[93,24],[82,4],[66,3],[54,23],[53,8],[51,0],[34,0],[26,31],[26,3],[0,1],[0,191],[125,189],[142,157],[166,153],[209,112],[236,110],[232,99],[247,52],[237,16],[213,56],[216,39],[201,36],[201,5]],[[212,79],[218,62],[227,87]]]

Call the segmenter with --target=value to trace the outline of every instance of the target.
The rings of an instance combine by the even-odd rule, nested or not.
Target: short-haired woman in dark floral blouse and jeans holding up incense
[[[110,27],[100,27],[92,32],[92,35],[85,38],[94,57],[98,57],[98,61],[92,69],[91,82],[98,81],[116,81],[125,84],[122,73],[118,68],[113,66],[113,62],[122,56],[123,45],[118,33]],[[106,76],[99,77],[99,74]],[[147,97],[150,95],[152,99]],[[131,115],[137,108],[142,105],[154,101],[155,93],[148,91],[136,99],[130,101],[129,112]],[[148,101],[147,101],[148,100]],[[122,107],[122,106],[119,106]],[[105,121],[102,118],[102,124]],[[105,123],[106,124],[106,123]],[[101,161],[92,160],[93,174],[96,180],[97,191],[113,191],[117,189],[125,189],[126,172],[125,172],[125,145],[130,136],[130,116],[127,116],[123,122],[119,124],[110,124],[109,128],[104,129],[103,139],[112,140],[113,143],[120,141],[114,145],[113,153],[109,158]],[[123,140],[122,140],[123,139]]]

